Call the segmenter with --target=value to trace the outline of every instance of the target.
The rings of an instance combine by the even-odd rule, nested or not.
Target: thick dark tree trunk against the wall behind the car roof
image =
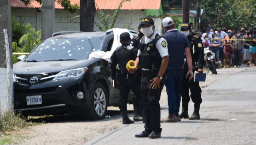
[[[94,0],[80,0],[80,31],[93,31],[95,9]]]

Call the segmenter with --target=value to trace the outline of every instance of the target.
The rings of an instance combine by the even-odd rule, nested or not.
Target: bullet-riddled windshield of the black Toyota
[[[37,46],[26,61],[86,60],[93,51],[101,51],[103,38],[48,39]]]

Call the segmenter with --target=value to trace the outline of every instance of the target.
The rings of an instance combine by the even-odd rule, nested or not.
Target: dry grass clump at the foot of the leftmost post
[[[26,119],[24,119],[20,113],[15,114],[11,110],[6,110],[0,116],[0,132],[3,134],[25,128],[26,126]]]

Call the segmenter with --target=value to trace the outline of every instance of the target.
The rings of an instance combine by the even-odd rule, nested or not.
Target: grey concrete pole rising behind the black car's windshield
[[[42,0],[42,40],[51,37],[54,33],[54,0]]]

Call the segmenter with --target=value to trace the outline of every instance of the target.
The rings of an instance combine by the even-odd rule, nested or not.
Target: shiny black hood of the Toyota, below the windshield
[[[69,69],[83,68],[96,59],[90,60],[69,60],[69,61],[41,61],[26,62],[19,61],[13,65],[14,74],[45,74],[52,72],[60,72]]]

